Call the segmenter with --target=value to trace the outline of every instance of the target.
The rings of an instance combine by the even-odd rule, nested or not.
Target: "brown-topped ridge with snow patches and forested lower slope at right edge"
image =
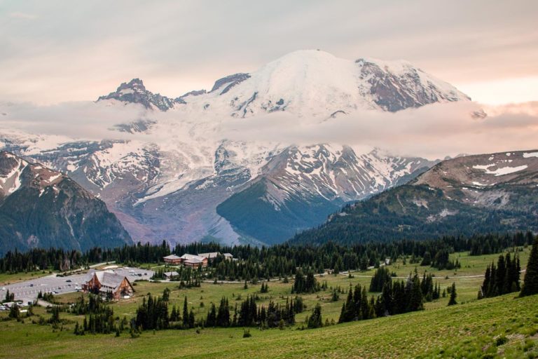
[[[410,184],[347,205],[292,243],[359,243],[538,230],[538,151],[443,161]]]

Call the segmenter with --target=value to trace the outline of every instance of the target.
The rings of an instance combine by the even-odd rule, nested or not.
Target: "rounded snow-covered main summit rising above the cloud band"
[[[405,60],[338,58],[322,50],[297,50],[249,74],[219,79],[201,102],[231,107],[231,116],[289,111],[297,116],[329,118],[358,109],[400,111],[435,102],[469,100],[449,83]]]

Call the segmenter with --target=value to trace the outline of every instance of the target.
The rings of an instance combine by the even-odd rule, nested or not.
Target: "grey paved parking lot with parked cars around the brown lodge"
[[[154,273],[146,269],[129,267],[111,268],[108,270],[120,276],[126,276],[131,283],[135,280],[149,280]],[[76,292],[76,288],[81,287],[82,283],[88,280],[88,276],[88,273],[74,274],[66,277],[57,277],[55,274],[51,274],[50,276],[34,278],[25,282],[4,285],[1,287],[0,297],[4,297],[9,290],[9,292],[15,294],[15,300],[32,302],[37,298],[39,292],[53,292],[55,294]]]

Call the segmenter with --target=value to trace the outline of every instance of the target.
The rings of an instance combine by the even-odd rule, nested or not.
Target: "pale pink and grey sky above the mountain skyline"
[[[0,101],[178,96],[293,50],[405,59],[484,104],[538,100],[538,1],[1,1]]]

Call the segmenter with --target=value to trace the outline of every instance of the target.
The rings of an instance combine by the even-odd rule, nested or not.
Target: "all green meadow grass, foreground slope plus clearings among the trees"
[[[331,325],[318,330],[298,330],[310,308],[322,305],[323,320],[338,320],[340,308],[346,295],[340,294],[338,302],[331,302],[330,291],[303,295],[308,309],[296,316],[297,325],[285,330],[258,330],[251,328],[252,337],[242,338],[242,328],[195,330],[163,330],[144,332],[132,339],[127,333],[116,338],[111,335],[77,337],[73,334],[74,323],[83,317],[62,313],[62,318],[71,320],[64,330],[53,331],[48,325],[37,325],[26,319],[25,323],[14,320],[0,322],[0,358],[533,358],[537,351],[538,297],[515,299],[508,294],[493,299],[476,301],[476,293],[483,278],[470,277],[483,274],[487,266],[498,255],[469,257],[456,253],[462,263],[458,271],[435,271],[418,266],[420,274],[432,270],[443,287],[456,283],[457,306],[447,307],[448,298],[427,303],[425,311],[408,313],[389,318],[377,318],[362,322]],[[520,253],[524,268],[528,250]],[[415,270],[415,264],[403,265],[396,262],[389,266],[398,276],[406,276]],[[329,287],[347,290],[352,285],[369,285],[373,271],[353,273],[347,276],[326,275]],[[446,278],[448,276],[448,278]],[[245,290],[242,284],[202,283],[201,287],[181,289],[177,283],[137,282],[137,294],[131,299],[111,304],[115,316],[135,315],[144,294],[160,294],[165,287],[172,290],[171,304],[178,309],[183,306],[184,296],[198,318],[205,318],[211,302],[218,304],[221,297],[228,297],[230,305],[240,303],[247,294],[258,293],[261,303],[285,302],[290,294],[291,283],[275,281],[269,283],[269,292],[260,294],[260,285],[251,285]],[[72,302],[80,293],[64,294],[58,299]],[[204,306],[200,306],[200,303]],[[171,307],[170,307],[171,308]],[[45,309],[36,309],[36,314],[48,318]],[[6,314],[0,314],[5,317]],[[499,344],[499,345],[497,345]]]

